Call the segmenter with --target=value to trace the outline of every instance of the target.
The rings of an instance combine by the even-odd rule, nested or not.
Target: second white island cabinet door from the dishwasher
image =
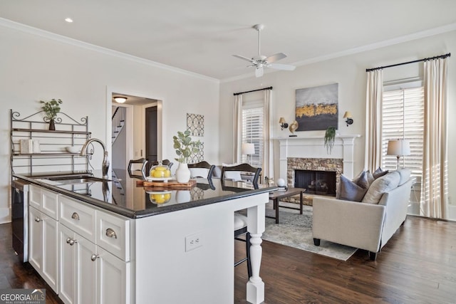
[[[43,263],[41,276],[57,293],[58,280],[57,221],[43,214]]]

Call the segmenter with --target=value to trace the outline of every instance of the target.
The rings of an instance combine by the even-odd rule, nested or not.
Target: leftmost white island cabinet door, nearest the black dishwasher
[[[40,211],[32,206],[30,206],[28,214],[28,237],[30,240],[28,262],[38,273],[41,273],[41,262],[43,259],[43,216]]]

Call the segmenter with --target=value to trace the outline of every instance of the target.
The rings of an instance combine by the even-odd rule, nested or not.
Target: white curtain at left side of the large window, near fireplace
[[[382,160],[383,70],[368,73],[366,88],[366,156],[364,167],[374,172]]]

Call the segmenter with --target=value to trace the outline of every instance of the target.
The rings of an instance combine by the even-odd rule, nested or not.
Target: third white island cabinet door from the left
[[[60,279],[58,280],[58,296],[64,303],[76,303],[76,246],[71,241],[76,239],[75,233],[66,226],[59,225],[58,248],[60,259]]]

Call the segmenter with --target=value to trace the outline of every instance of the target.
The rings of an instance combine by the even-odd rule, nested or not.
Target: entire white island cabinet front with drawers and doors
[[[30,257],[64,303],[134,303],[130,219],[30,187]]]

